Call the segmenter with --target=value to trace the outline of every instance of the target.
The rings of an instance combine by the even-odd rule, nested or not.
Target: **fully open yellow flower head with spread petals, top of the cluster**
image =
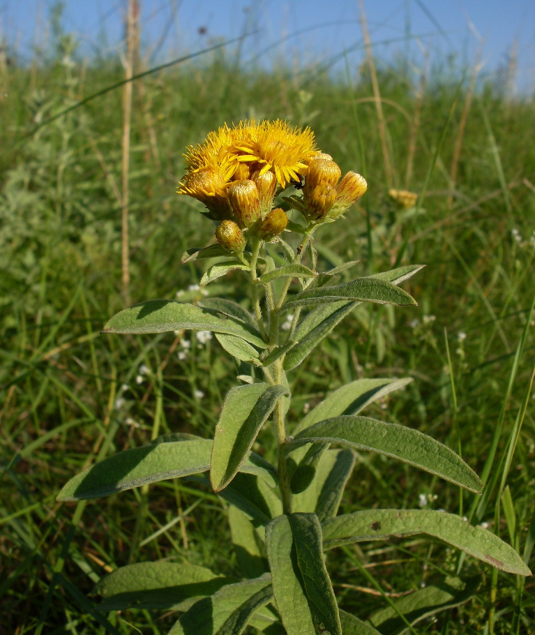
[[[292,128],[277,119],[250,124],[247,132],[250,138],[236,143],[236,150],[241,152],[237,160],[259,164],[260,174],[273,172],[282,188],[290,181],[299,181],[299,174],[306,173],[308,160],[317,154],[310,128]]]

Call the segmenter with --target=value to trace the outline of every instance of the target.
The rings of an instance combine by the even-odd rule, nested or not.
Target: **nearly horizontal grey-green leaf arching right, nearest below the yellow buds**
[[[407,292],[389,282],[379,278],[356,278],[356,280],[342,285],[301,291],[301,293],[289,298],[282,306],[281,311],[287,311],[294,306],[308,306],[340,300],[398,304],[401,306],[417,304],[416,300]]]

